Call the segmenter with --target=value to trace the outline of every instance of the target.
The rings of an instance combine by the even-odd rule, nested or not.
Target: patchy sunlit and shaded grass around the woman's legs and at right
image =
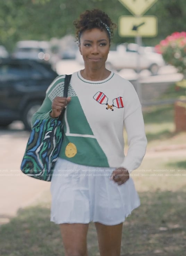
[[[174,132],[173,114],[172,106],[144,110],[149,149],[185,142],[185,132]],[[141,206],[124,222],[121,255],[186,255],[185,156],[145,157],[132,177]],[[35,206],[19,210],[17,217],[0,226],[1,256],[64,256],[59,227],[49,221],[50,200],[46,198],[49,191]],[[99,255],[93,223],[88,251],[90,256]]]

